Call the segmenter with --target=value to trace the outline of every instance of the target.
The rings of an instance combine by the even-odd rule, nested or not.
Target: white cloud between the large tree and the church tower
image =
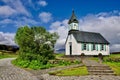
[[[64,48],[65,40],[67,37],[68,33],[68,25],[67,25],[68,20],[65,19],[63,21],[56,21],[51,24],[50,32],[57,32],[59,35],[59,39],[56,42],[55,49],[61,49]]]

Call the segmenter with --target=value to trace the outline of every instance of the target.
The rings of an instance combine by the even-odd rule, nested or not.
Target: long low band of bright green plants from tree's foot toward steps
[[[41,61],[41,60],[43,60],[43,58],[39,58],[39,60],[32,60],[32,61],[17,58],[16,60],[13,60],[12,63],[14,65],[17,65],[22,68],[30,68],[30,69],[34,69],[34,70],[47,69],[47,68],[57,67],[57,66],[68,66],[68,65],[72,65],[72,64],[80,64],[81,63],[78,60],[74,60],[74,61],[54,60],[54,61],[57,61],[57,63],[51,63],[50,61],[46,61],[43,63],[43,61]]]

